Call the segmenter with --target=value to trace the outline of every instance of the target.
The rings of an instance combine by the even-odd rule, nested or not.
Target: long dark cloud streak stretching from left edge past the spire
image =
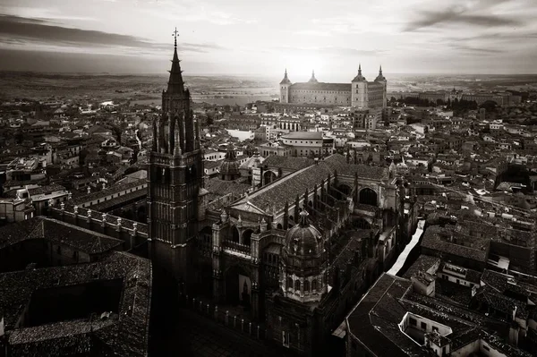
[[[49,24],[41,19],[23,18],[0,14],[0,38],[3,43],[8,39],[37,42],[52,46],[66,47],[130,47],[154,51],[170,51],[172,44],[163,44],[130,35],[103,32],[98,30],[72,29]],[[213,44],[180,43],[182,51],[203,53],[224,49]]]

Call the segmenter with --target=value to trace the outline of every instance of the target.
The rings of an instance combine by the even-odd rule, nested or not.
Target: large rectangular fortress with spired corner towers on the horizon
[[[362,65],[359,65],[358,74],[350,83],[323,83],[317,81],[315,72],[311,72],[310,81],[292,83],[286,70],[280,82],[280,103],[385,108],[387,83],[382,66],[375,81],[367,81],[362,76]]]

